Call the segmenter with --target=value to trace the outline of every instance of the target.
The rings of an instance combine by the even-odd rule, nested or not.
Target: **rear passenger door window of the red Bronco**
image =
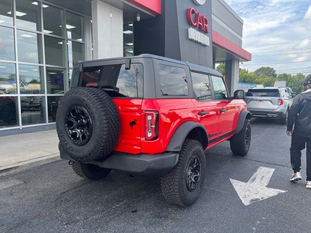
[[[191,72],[194,94],[197,100],[211,100],[210,84],[207,74]]]

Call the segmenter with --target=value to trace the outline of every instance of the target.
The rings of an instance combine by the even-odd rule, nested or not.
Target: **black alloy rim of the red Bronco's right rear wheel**
[[[193,192],[200,181],[201,164],[198,156],[193,156],[187,167],[186,184],[187,189]]]

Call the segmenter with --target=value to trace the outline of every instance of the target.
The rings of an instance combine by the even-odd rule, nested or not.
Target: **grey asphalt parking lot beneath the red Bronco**
[[[86,181],[66,161],[2,176],[0,232],[310,232],[311,190],[304,180],[289,182],[290,137],[285,130],[276,121],[255,119],[246,157],[233,156],[228,142],[207,151],[205,187],[189,208],[165,202],[158,178],[111,172],[104,180]],[[304,151],[303,179],[305,157]],[[246,196],[240,199],[232,182],[247,183],[260,171],[266,177],[257,183],[268,188],[261,194],[281,192],[250,203]],[[260,195],[257,187],[250,185],[248,192]]]

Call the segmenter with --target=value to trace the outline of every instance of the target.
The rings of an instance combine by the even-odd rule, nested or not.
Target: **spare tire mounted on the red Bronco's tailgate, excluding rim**
[[[82,106],[92,120],[92,133],[85,145],[74,144],[67,134],[66,116],[72,106]],[[120,135],[120,116],[110,96],[101,89],[77,87],[62,98],[57,114],[56,129],[59,141],[76,161],[89,162],[109,155]]]

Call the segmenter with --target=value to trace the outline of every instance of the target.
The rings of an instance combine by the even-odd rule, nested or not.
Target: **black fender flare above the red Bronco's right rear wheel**
[[[203,132],[203,134],[205,134],[203,140],[204,141],[206,140],[206,143],[204,143],[202,145],[203,150],[205,150],[207,148],[207,144],[208,144],[208,134],[207,134],[205,127],[201,124],[194,122],[194,121],[187,121],[187,122],[182,123],[177,128],[177,130],[173,133],[173,136],[170,140],[170,143],[169,143],[166,151],[169,151],[169,152],[180,151],[187,135],[191,132],[191,130],[193,130],[195,128],[200,128],[201,132]],[[202,142],[200,142],[200,143],[202,144]]]

